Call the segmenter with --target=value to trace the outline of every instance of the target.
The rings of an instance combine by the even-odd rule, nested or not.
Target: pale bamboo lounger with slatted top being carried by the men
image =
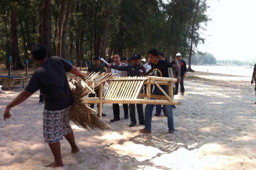
[[[163,78],[155,76],[146,77],[117,77],[110,79],[109,87],[102,98],[86,98],[90,100],[88,103],[138,103],[138,104],[166,104],[179,105],[180,101],[173,100],[173,85],[172,82],[177,82],[174,78]],[[143,85],[147,84],[147,93],[142,94],[140,91]],[[164,94],[152,95],[150,94],[150,85],[155,84]],[[169,94],[166,94],[161,85],[169,87]],[[99,91],[103,88],[100,87]],[[146,98],[146,99],[144,99]]]

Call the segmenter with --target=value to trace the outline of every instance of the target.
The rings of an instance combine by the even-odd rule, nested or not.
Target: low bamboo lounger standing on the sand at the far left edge
[[[8,87],[8,90],[11,90],[11,87],[22,86],[24,87],[24,80],[26,77],[14,77],[14,76],[2,76],[0,75],[0,85],[3,87]]]

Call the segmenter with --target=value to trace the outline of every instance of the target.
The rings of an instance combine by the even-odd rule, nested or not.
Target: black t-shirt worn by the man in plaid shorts
[[[72,104],[71,91],[66,72],[72,69],[63,58],[48,58],[34,72],[25,90],[31,93],[41,88],[46,110],[62,110]]]

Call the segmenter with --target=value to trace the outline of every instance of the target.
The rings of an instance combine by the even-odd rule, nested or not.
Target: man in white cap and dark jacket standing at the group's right
[[[176,60],[173,60],[171,62],[172,64],[175,64],[180,67],[180,76],[181,76],[181,81],[180,81],[180,94],[183,96],[184,95],[184,76],[187,74],[187,64],[184,60],[181,59],[181,54],[177,53],[176,54]],[[177,70],[175,69],[175,75],[177,76]],[[174,95],[178,94],[178,88],[179,88],[179,83],[175,83],[175,91]]]

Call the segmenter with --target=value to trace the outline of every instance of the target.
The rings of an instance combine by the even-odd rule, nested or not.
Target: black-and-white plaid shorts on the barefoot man
[[[43,134],[47,143],[59,142],[63,136],[72,132],[69,126],[69,112],[71,106],[62,110],[46,110],[43,116]]]

